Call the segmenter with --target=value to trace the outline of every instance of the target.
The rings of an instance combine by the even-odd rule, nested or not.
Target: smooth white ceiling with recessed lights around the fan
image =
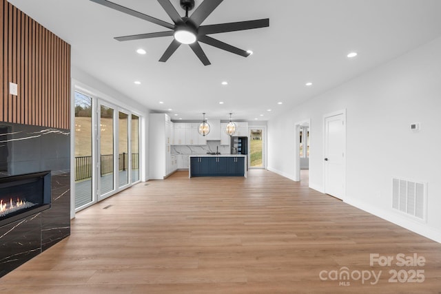
[[[172,23],[157,1],[112,1]],[[178,0],[171,1],[185,14]],[[269,28],[211,35],[252,56],[201,43],[212,65],[204,66],[188,45],[161,63],[172,36],[113,39],[161,26],[89,0],[9,2],[72,45],[72,66],[174,120],[201,119],[202,112],[270,120],[441,35],[439,0],[225,0],[202,25],[269,18]],[[138,48],[147,54],[137,54]],[[348,59],[353,51],[358,56]]]

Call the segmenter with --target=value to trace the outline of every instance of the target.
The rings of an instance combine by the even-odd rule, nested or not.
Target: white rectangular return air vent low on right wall
[[[427,183],[392,178],[392,207],[409,216],[426,220]]]

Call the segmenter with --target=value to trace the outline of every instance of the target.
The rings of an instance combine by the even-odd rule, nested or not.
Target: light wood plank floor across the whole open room
[[[248,176],[180,171],[127,189],[77,213],[72,235],[2,277],[0,292],[440,293],[441,244],[309,189],[307,175]],[[394,260],[371,267],[370,253]],[[400,253],[426,262],[396,266]],[[320,279],[344,267],[349,280]],[[394,270],[424,282],[389,282]],[[381,271],[377,284],[358,280],[368,271]]]

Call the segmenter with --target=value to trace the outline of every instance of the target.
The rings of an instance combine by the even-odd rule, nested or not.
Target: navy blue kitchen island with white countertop
[[[243,176],[247,178],[247,156],[242,154],[190,155],[188,177],[194,176]]]

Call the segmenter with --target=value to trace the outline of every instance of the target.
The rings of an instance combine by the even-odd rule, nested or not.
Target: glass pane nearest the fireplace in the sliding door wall
[[[92,98],[75,92],[75,209],[93,202]]]

